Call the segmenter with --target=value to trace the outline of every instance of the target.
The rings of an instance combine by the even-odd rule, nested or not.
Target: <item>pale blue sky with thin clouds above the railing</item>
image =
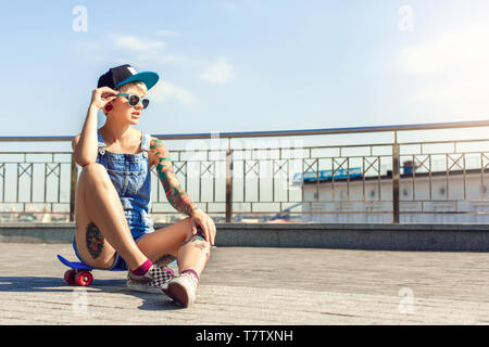
[[[125,63],[160,75],[136,126],[152,134],[489,115],[486,0],[18,0],[0,28],[0,136],[79,133]]]

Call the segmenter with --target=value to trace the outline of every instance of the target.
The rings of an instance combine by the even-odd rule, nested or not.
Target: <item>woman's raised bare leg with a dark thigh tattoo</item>
[[[77,252],[88,265],[110,268],[115,252],[131,270],[147,260],[133,240],[121,198],[101,164],[84,167],[76,189],[75,216]]]

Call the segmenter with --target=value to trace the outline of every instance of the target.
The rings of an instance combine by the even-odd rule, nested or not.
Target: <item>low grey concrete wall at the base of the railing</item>
[[[167,224],[155,224],[155,229]],[[489,252],[486,224],[217,223],[216,246]],[[0,242],[71,243],[74,223],[2,223]]]

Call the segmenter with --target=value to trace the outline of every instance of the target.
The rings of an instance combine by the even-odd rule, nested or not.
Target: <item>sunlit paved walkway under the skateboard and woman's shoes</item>
[[[0,324],[488,324],[489,254],[220,247],[197,303],[67,286],[70,245],[0,243]]]

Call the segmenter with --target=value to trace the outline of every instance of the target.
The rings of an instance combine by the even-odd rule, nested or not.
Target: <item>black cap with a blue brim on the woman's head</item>
[[[109,87],[115,89],[120,86],[141,81],[146,85],[148,90],[153,87],[160,77],[156,73],[142,72],[136,73],[136,70],[129,64],[110,68],[105,74],[100,76],[97,88]]]

